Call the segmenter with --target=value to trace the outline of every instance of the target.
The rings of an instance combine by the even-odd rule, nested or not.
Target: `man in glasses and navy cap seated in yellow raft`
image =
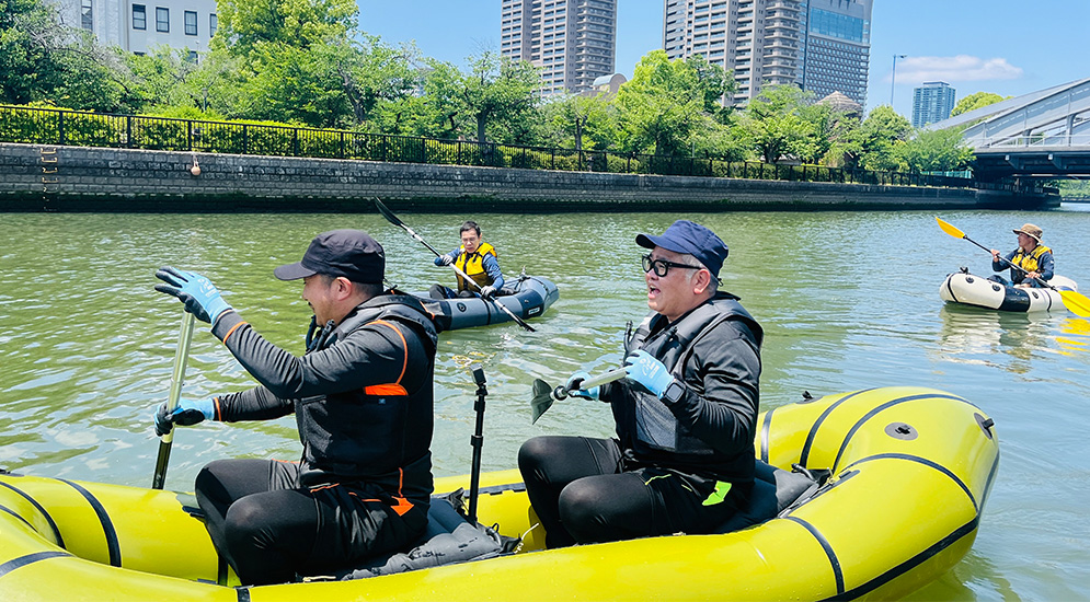
[[[718,290],[726,244],[688,220],[636,244],[651,250],[653,313],[624,343],[628,377],[575,392],[611,405],[617,438],[536,437],[518,452],[549,547],[713,532],[753,489],[762,331]]]

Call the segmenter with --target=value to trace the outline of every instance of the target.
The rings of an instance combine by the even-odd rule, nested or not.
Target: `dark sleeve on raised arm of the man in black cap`
[[[417,335],[409,326],[387,321],[367,324],[335,345],[301,358],[265,340],[234,312],[220,316],[213,334],[268,394],[279,400],[397,383],[410,361],[417,359],[410,358],[405,340],[409,336],[415,341]]]

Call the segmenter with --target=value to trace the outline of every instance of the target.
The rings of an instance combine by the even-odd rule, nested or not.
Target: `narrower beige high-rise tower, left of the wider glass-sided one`
[[[543,96],[577,94],[613,72],[617,0],[503,0],[500,51],[541,68]]]

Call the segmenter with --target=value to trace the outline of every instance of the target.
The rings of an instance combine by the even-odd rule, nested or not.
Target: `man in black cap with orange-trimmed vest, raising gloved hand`
[[[298,463],[219,460],[196,496],[216,548],[243,584],[328,574],[410,547],[432,494],[433,369],[437,332],[412,297],[385,292],[382,246],[358,230],[314,238],[280,280],[303,280],[314,312],[303,357],[266,341],[207,278],[164,267],[156,290],[211,324],[261,383],[156,414],[156,432],[209,420],[295,413]]]

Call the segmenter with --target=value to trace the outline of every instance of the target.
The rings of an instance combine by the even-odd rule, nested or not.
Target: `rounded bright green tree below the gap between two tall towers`
[[[690,63],[669,60],[665,50],[647,53],[617,93],[621,144],[664,155],[690,150],[689,137],[700,123],[704,100]]]

